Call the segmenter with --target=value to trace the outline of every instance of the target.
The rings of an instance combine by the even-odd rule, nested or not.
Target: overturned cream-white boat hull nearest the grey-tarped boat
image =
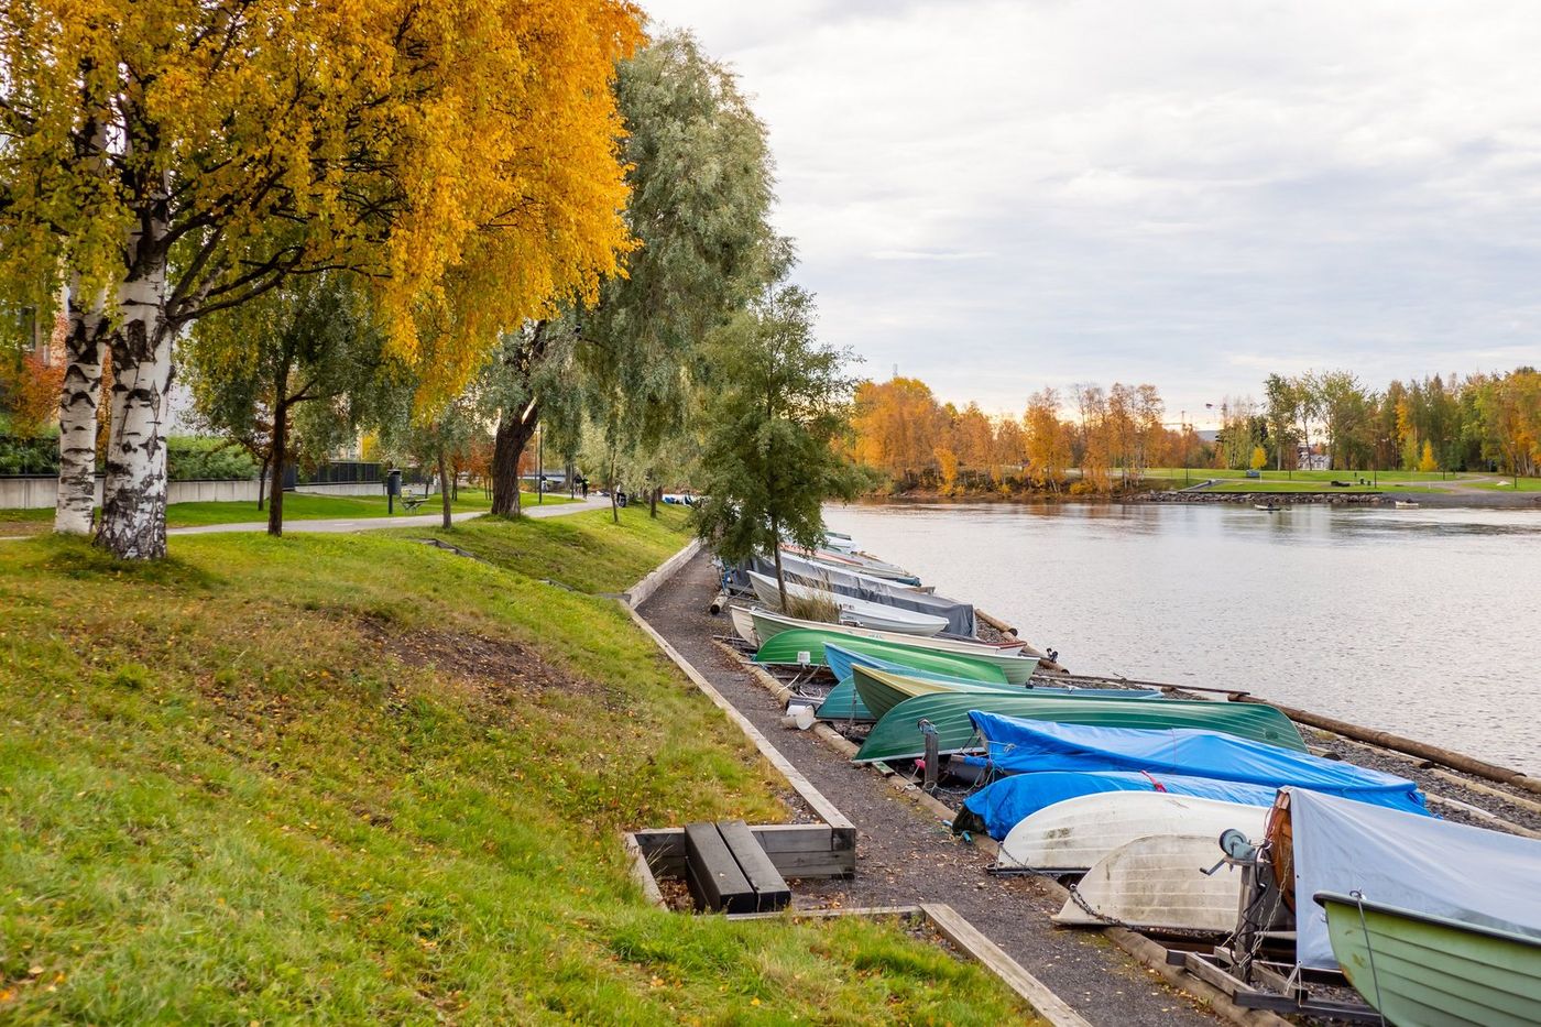
[[[1080,927],[1111,921],[1139,930],[1230,933],[1241,911],[1242,871],[1225,864],[1205,874],[1220,856],[1214,834],[1150,834],[1125,842],[1076,885],[1093,911],[1071,896],[1053,919]]]

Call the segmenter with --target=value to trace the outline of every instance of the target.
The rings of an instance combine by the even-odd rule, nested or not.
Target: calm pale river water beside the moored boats
[[[1076,672],[1244,688],[1541,774],[1541,514],[874,504],[835,530]]]

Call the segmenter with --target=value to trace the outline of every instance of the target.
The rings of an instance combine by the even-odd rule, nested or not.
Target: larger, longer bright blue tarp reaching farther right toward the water
[[[1231,703],[1217,703],[1231,705]],[[1103,728],[969,712],[1000,771],[1165,771],[1284,788],[1299,785],[1378,806],[1429,816],[1424,794],[1405,777],[1324,760],[1197,728]]]

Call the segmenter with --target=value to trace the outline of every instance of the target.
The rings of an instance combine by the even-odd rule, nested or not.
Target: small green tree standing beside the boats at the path
[[[701,538],[727,560],[772,557],[783,603],[781,543],[818,546],[823,503],[857,487],[837,447],[849,430],[851,358],[815,342],[812,321],[812,298],[783,285],[718,335],[721,375],[701,453]]]

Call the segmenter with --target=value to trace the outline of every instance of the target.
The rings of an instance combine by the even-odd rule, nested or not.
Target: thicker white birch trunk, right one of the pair
[[[171,339],[166,324],[166,191],[160,184],[128,234],[112,332],[112,418],[97,546],[122,560],[166,555],[166,436]]]

